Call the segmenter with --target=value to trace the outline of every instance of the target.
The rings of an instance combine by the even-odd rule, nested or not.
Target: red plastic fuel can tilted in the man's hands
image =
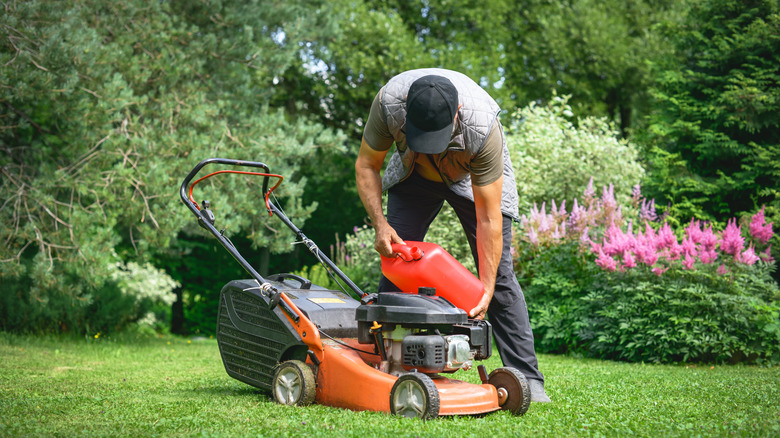
[[[436,295],[471,311],[482,298],[482,283],[441,246],[430,242],[394,243],[399,257],[382,257],[382,273],[402,292],[416,294],[420,287],[436,288]]]

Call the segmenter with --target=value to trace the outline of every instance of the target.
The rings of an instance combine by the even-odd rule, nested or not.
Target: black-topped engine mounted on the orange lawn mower
[[[384,292],[361,301],[356,309],[358,342],[375,346],[382,371],[451,373],[490,357],[490,323],[469,320],[435,292],[421,287],[417,295]]]

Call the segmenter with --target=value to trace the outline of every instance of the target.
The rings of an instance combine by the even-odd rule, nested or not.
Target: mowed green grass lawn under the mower
[[[0,436],[780,436],[777,367],[539,360],[553,403],[424,422],[275,404],[225,374],[212,339],[0,333]]]

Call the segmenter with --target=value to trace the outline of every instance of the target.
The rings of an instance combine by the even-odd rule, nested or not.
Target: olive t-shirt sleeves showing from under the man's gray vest
[[[380,103],[380,90],[371,104],[371,111],[363,128],[363,139],[375,151],[387,151],[395,142],[387,128],[387,118]],[[485,144],[469,165],[471,183],[481,187],[495,182],[504,172],[504,131],[501,122],[490,128]]]

